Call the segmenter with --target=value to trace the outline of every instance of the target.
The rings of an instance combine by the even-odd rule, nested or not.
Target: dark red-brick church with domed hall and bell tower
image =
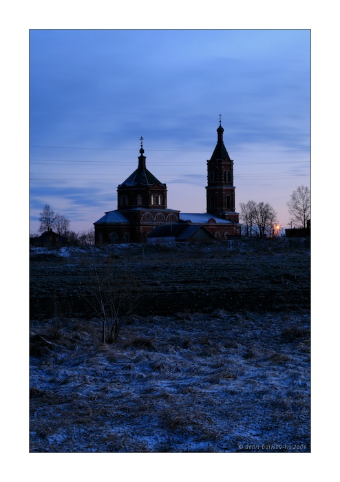
[[[140,138],[138,167],[118,185],[118,209],[107,211],[94,222],[96,245],[145,242],[154,228],[165,224],[175,227],[181,222],[202,226],[220,240],[240,235],[239,215],[235,212],[233,160],[224,146],[223,132],[220,120],[217,145],[207,161],[206,213],[182,213],[167,208],[167,186],[147,169],[143,138]]]

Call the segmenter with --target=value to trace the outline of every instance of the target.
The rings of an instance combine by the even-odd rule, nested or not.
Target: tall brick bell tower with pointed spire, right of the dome
[[[239,215],[235,212],[235,187],[233,163],[223,142],[224,129],[217,127],[217,144],[213,155],[206,161],[208,167],[208,185],[206,187],[206,212],[238,223]]]

